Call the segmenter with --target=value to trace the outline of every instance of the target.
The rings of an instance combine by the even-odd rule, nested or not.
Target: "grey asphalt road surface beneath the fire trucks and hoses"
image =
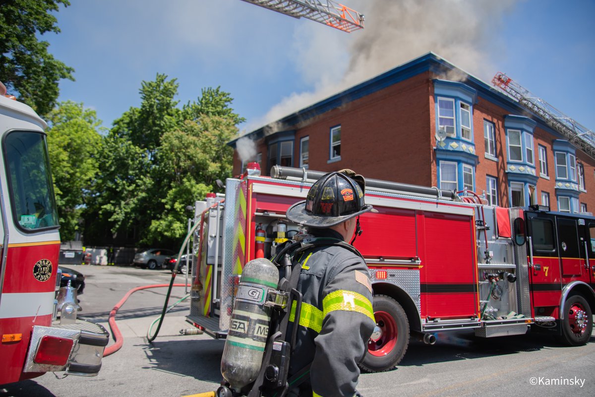
[[[79,316],[105,327],[109,311],[133,287],[168,283],[170,274],[131,267],[77,266],[86,275]],[[176,282],[183,282],[179,275]],[[118,311],[120,351],[105,357],[96,377],[53,374],[4,386],[0,397],[186,396],[215,390],[221,381],[223,341],[180,335],[188,303],[168,312],[153,343],[146,333],[164,304],[166,288],[133,293]],[[176,287],[170,304],[184,296]],[[113,342],[110,342],[110,344]],[[436,345],[412,342],[392,371],[362,374],[365,396],[593,396],[595,337],[569,348],[538,334],[476,339],[472,333],[440,333]]]

